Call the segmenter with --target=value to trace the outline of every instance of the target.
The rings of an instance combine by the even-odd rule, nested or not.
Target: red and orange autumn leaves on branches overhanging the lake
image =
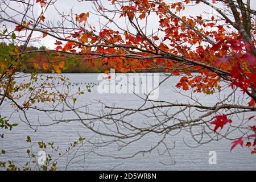
[[[49,1],[36,0],[40,6],[48,6]],[[132,0],[125,3],[112,0],[109,3],[116,9],[109,13],[118,14],[118,18],[129,22],[133,31],[123,28],[124,25],[117,24],[115,28],[104,26],[101,30],[90,26],[90,14],[87,12],[71,14],[73,24],[79,27],[68,32],[63,37],[57,36],[52,30],[46,31],[39,28],[42,38],[52,36],[56,39],[55,49],[48,50],[55,54],[55,58],[65,55],[79,55],[80,60],[92,63],[100,59],[102,65],[115,68],[118,72],[136,72],[138,69],[163,68],[164,71],[173,75],[181,75],[176,87],[193,92],[213,94],[221,92],[221,81],[228,82],[230,88],[240,89],[249,97],[245,106],[255,111],[256,101],[256,69],[255,69],[255,34],[254,24],[251,16],[255,18],[255,11],[245,13],[242,1],[147,1]],[[222,3],[232,12],[229,18],[217,8],[217,3]],[[241,4],[240,4],[241,3]],[[208,8],[216,7],[217,15],[210,18],[198,14],[183,15],[188,5],[205,5]],[[108,9],[97,4],[97,11],[106,22],[114,23],[105,13]],[[180,15],[181,14],[181,15]],[[158,29],[152,33],[146,33],[141,26],[145,20],[154,16],[157,19]],[[47,18],[40,15],[40,22],[44,23]],[[31,20],[32,21],[32,20]],[[34,22],[18,22],[14,31],[22,33],[32,30]],[[118,27],[118,28],[117,28]],[[146,29],[146,28],[145,28]],[[45,51],[47,52],[47,51]],[[29,53],[29,52],[27,52]],[[20,50],[16,52],[19,56],[26,54]],[[43,69],[49,69],[49,63],[39,63]],[[61,70],[69,64],[67,60],[55,63],[53,73],[61,73]],[[1,66],[1,68],[3,68]],[[2,71],[12,72],[15,66]],[[35,63],[35,68],[38,68]],[[192,72],[199,75],[193,76]],[[252,121],[254,118],[249,118]],[[210,122],[213,132],[218,133],[226,125],[231,125],[232,119],[225,113],[217,114]],[[249,138],[246,135],[234,140],[231,150],[238,144],[251,148],[255,153],[255,126],[246,126]],[[254,133],[254,134],[253,134]],[[254,138],[254,142],[247,141]]]

